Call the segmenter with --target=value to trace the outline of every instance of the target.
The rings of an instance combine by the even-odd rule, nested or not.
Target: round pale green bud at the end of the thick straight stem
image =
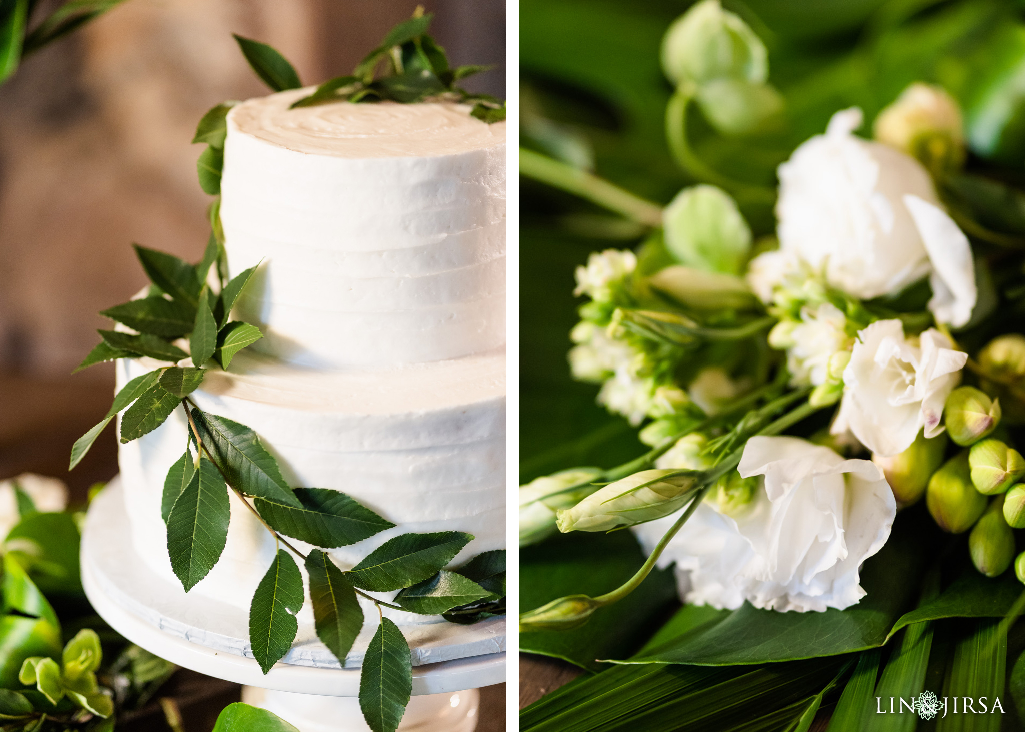
[[[751,230],[730,195],[714,186],[681,191],[662,211],[665,247],[686,267],[739,275],[751,248]]]

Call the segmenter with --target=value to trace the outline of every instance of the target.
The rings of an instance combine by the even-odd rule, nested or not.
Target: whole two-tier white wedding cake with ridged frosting
[[[229,114],[224,248],[232,276],[259,263],[235,317],[263,338],[192,399],[255,431],[291,486],[396,524],[332,550],[342,569],[398,534],[449,530],[476,536],[457,566],[505,546],[505,123],[454,104],[289,109],[309,91]],[[119,361],[118,388],[159,366]],[[160,506],[187,439],[177,409],[119,456],[132,546],[177,591]],[[220,561],[188,597],[244,620],[275,551],[233,495]],[[315,642],[309,601],[298,617],[296,645]]]

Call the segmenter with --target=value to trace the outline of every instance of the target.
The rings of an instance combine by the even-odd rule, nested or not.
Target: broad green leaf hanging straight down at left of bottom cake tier
[[[171,569],[187,593],[220,559],[231,515],[224,479],[201,455],[199,470],[174,500],[167,517],[167,554]]]

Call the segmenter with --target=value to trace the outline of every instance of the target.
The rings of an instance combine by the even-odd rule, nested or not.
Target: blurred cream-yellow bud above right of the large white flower
[[[920,160],[932,170],[965,162],[960,107],[942,87],[914,83],[875,118],[875,138]]]

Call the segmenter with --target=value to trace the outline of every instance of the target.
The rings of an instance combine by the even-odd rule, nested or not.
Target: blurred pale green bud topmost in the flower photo
[[[719,0],[702,0],[678,17],[662,37],[662,71],[675,84],[740,79],[761,84],[769,76],[765,44]]]

